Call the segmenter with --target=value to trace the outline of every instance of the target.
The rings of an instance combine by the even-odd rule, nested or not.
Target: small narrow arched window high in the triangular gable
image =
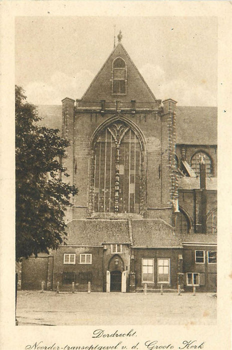
[[[126,63],[121,57],[113,61],[112,94],[126,94]]]

